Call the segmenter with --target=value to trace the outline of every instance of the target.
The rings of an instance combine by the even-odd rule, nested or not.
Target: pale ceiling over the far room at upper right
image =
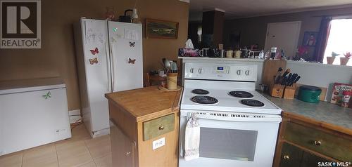
[[[203,11],[225,11],[225,18],[313,11],[352,6],[352,0],[190,0],[189,20],[201,20]]]

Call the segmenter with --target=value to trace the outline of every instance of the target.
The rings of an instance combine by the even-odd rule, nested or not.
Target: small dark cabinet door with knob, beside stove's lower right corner
[[[289,145],[284,142],[282,146],[280,167],[297,167],[300,166],[303,156],[303,150]]]

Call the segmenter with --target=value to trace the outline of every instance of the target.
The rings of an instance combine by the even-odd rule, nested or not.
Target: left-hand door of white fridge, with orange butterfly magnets
[[[89,130],[100,131],[109,127],[108,101],[111,92],[110,58],[106,20],[82,19],[84,69],[87,81],[89,107],[82,109],[84,122],[91,121]],[[86,123],[88,123],[86,122]]]

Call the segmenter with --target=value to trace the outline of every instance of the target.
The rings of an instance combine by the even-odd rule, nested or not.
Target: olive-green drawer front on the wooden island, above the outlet
[[[143,139],[149,140],[156,138],[159,135],[163,135],[170,131],[174,131],[175,128],[175,114],[168,114],[161,116],[157,119],[143,122]]]

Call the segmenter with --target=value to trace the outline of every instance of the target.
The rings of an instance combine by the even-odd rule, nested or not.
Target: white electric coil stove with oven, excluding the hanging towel
[[[282,109],[255,91],[256,81],[256,65],[184,63],[180,167],[272,166]],[[200,155],[185,161],[184,128],[191,113],[201,126]]]

